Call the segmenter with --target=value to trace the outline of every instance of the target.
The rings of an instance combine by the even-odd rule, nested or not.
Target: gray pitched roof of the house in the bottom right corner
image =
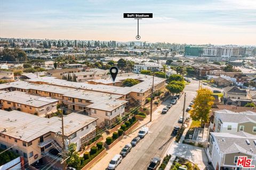
[[[211,135],[215,140],[217,140],[220,152],[225,154],[243,152],[249,155],[256,155],[256,145],[254,143],[254,140],[256,140],[256,135],[252,135],[246,132],[211,132]],[[250,141],[250,145],[246,143],[246,139]]]

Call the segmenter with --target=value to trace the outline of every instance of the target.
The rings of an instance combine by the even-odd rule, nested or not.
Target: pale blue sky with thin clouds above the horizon
[[[0,0],[0,37],[256,45],[255,0]]]

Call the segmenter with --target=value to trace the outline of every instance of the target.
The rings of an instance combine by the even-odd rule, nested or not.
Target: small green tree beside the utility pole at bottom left
[[[78,168],[81,164],[81,161],[79,159],[79,154],[76,151],[76,143],[71,143],[68,146],[68,159],[67,159],[67,165],[73,168]]]

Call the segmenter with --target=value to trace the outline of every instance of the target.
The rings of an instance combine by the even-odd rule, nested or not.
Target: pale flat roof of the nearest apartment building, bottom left
[[[0,133],[26,142],[49,132],[61,132],[60,117],[45,118],[19,111],[7,112],[3,110],[0,110],[0,117]],[[64,116],[63,120],[64,133],[69,136],[96,121],[97,118],[70,113]]]

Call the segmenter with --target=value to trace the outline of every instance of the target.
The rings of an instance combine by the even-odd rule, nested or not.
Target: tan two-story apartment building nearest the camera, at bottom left
[[[27,166],[46,157],[61,160],[61,119],[45,118],[19,111],[0,110],[0,147],[23,156]],[[77,150],[95,136],[97,118],[71,113],[64,117],[65,141]]]

